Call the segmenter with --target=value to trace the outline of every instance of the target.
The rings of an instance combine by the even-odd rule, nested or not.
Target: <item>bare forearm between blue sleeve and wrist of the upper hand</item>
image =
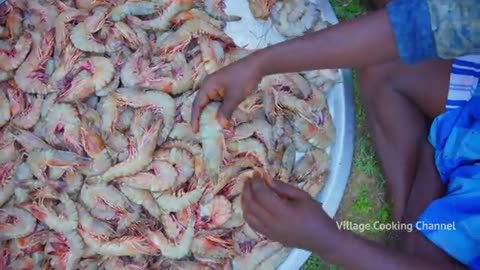
[[[398,59],[386,10],[309,33],[251,55],[262,75],[358,68]]]

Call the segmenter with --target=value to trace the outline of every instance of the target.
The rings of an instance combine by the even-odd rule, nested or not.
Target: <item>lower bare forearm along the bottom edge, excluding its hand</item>
[[[330,251],[313,250],[329,263],[342,269],[465,269],[457,264],[433,263],[429,260],[386,249],[380,244],[361,239],[347,231],[336,231]],[[321,241],[317,239],[317,241]]]

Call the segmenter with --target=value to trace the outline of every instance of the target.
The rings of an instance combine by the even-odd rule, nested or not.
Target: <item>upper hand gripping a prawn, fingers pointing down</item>
[[[257,88],[262,79],[261,73],[260,61],[251,55],[208,76],[193,101],[193,131],[198,132],[200,114],[212,101],[223,101],[217,120],[228,128],[233,111]]]

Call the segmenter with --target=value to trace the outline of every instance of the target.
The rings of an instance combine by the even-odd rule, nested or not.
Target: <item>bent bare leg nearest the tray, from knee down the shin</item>
[[[387,178],[392,216],[401,221],[415,179],[428,124],[444,110],[451,63],[400,62],[358,71],[367,124]],[[433,159],[433,156],[432,156]]]

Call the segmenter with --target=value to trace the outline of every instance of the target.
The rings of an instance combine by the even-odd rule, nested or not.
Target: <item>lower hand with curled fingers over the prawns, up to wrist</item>
[[[340,234],[334,220],[308,193],[260,175],[245,183],[242,208],[253,229],[289,247],[322,255],[331,251]]]

